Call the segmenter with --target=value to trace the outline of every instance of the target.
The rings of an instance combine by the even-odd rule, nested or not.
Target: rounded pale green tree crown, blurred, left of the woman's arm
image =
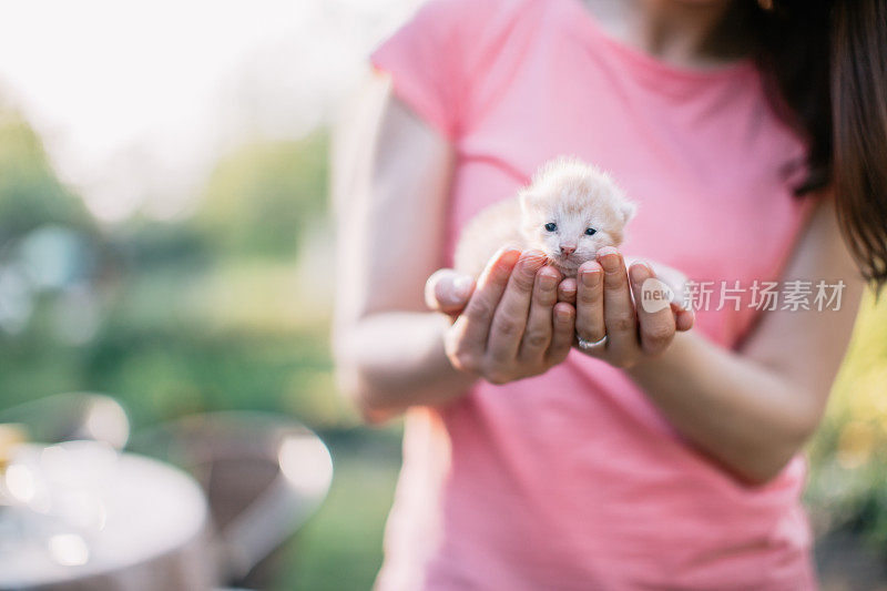
[[[216,166],[195,223],[223,252],[292,256],[325,211],[327,176],[326,133],[246,145]]]

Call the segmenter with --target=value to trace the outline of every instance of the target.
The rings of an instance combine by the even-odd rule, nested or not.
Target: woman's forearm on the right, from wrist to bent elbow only
[[[815,396],[693,333],[628,370],[689,440],[743,480],[769,480],[815,430]]]

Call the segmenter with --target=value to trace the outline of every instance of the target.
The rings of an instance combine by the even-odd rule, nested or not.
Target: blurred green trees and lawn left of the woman
[[[326,143],[317,133],[246,146],[218,164],[193,220],[103,228],[85,339],[63,338],[67,323],[89,316],[63,291],[35,293],[20,333],[0,329],[0,409],[93,390],[120,399],[136,431],[222,409],[325,429],[335,441],[329,502],[292,547],[281,589],[369,588],[398,463],[396,434],[354,427],[334,387],[328,302],[318,309],[300,292],[300,231],[325,213]],[[0,104],[0,251],[45,224],[98,235],[37,134]]]

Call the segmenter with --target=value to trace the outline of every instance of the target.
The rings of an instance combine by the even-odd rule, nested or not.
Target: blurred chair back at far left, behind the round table
[[[44,444],[90,439],[122,449],[130,437],[126,411],[104,394],[64,393],[23,403],[0,411],[0,424],[7,422]]]

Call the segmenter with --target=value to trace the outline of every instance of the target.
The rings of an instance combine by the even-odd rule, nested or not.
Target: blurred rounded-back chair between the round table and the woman
[[[333,461],[308,428],[277,415],[195,415],[137,434],[132,448],[191,472],[206,491],[231,584],[266,588],[275,550],[326,498]]]

